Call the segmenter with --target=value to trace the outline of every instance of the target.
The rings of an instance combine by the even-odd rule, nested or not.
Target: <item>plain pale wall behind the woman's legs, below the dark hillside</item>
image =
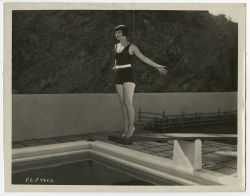
[[[121,131],[122,110],[116,94],[34,94],[12,97],[13,141]],[[134,106],[166,114],[237,109],[237,93],[139,93]]]

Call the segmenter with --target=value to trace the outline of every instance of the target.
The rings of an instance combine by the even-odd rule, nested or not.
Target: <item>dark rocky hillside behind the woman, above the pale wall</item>
[[[237,24],[199,11],[14,11],[13,93],[114,93],[114,27],[168,75],[134,57],[136,92],[237,91]]]

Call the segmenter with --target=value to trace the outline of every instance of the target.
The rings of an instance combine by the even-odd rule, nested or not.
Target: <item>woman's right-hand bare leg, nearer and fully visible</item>
[[[123,99],[125,102],[125,106],[128,114],[128,132],[127,137],[131,137],[135,131],[135,111],[133,106],[133,96],[134,96],[135,84],[132,82],[126,82],[123,84]]]

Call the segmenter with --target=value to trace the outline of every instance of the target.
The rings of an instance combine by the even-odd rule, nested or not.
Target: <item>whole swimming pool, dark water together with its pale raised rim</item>
[[[27,147],[12,153],[13,184],[173,186],[220,185],[230,180],[210,174],[189,172],[173,160],[100,141]]]

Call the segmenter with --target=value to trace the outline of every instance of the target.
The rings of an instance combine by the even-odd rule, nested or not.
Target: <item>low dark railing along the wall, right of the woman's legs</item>
[[[237,111],[227,111],[210,113],[191,113],[166,115],[162,113],[144,112],[139,109],[138,122],[144,129],[154,129],[156,131],[167,131],[172,128],[195,127],[204,125],[226,124],[237,122]]]

